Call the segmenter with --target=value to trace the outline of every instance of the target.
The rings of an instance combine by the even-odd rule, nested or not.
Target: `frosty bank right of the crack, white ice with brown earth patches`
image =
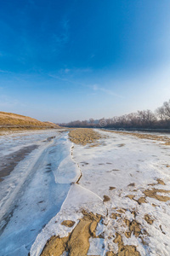
[[[78,131],[80,143],[74,144],[72,157],[82,177],[71,186],[60,212],[37,236],[31,255],[81,255],[71,252],[82,244],[77,229],[85,221],[83,211],[101,216],[99,223],[92,224],[90,235],[91,223],[86,219],[82,229],[88,244],[83,255],[168,255],[169,146],[163,139],[96,132],[98,146],[90,147],[90,143],[82,144],[82,131]],[[71,236],[80,244],[75,242],[74,247]]]

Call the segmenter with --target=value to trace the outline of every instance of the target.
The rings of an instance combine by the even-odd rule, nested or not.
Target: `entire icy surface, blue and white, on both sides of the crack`
[[[116,232],[121,234],[124,245],[136,246],[142,256],[170,255],[170,201],[147,196],[146,203],[138,203],[146,189],[170,190],[169,146],[161,141],[99,132],[105,138],[99,140],[98,147],[73,147],[66,132],[53,135],[50,131],[50,135],[45,135],[41,131],[32,137],[27,134],[27,139],[18,137],[18,148],[26,146],[27,140],[29,145],[38,143],[39,148],[0,183],[3,216],[11,212],[11,216],[3,218],[1,255],[25,256],[30,249],[31,256],[40,255],[51,236],[67,236],[75,228],[82,218],[82,209],[103,216],[96,236],[103,234],[105,238],[90,238],[88,255],[105,255],[109,250],[116,253]],[[47,141],[50,136],[55,138]],[[24,144],[17,143],[20,139]],[[0,143],[0,147],[6,148],[5,138],[0,137]],[[7,139],[7,148],[4,154],[15,148],[12,136]],[[165,185],[158,184],[157,179]],[[104,195],[110,200],[103,202]],[[134,195],[133,200],[127,195]],[[118,210],[122,211],[121,217],[111,218]],[[144,220],[145,214],[154,220],[153,224]],[[76,223],[71,228],[61,225],[66,219]],[[125,219],[139,223],[144,242],[134,234],[125,236]]]

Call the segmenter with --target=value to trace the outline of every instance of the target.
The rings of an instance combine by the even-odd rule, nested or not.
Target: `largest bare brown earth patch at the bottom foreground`
[[[89,238],[96,237],[95,230],[101,215],[93,212],[82,211],[83,218],[80,219],[76,228],[71,233],[60,238],[52,236],[42,251],[42,256],[60,256],[64,252],[69,252],[70,256],[85,256],[88,253]]]

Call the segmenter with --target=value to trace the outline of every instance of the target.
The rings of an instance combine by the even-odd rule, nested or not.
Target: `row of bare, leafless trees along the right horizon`
[[[154,112],[147,109],[122,116],[114,116],[110,119],[76,120],[59,125],[77,128],[170,129],[170,100],[164,102]]]

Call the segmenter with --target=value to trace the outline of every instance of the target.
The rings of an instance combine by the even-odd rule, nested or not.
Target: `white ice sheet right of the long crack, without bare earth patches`
[[[142,256],[170,255],[170,201],[157,201],[147,197],[146,203],[137,202],[139,197],[144,196],[145,189],[170,189],[169,147],[161,142],[105,131],[99,132],[106,137],[100,139],[99,147],[74,146],[73,159],[82,172],[79,185],[71,186],[61,211],[37,236],[31,247],[31,255],[40,255],[50,236],[67,236],[71,229],[64,230],[60,226],[61,221],[71,219],[77,224],[78,219],[82,217],[80,211],[82,208],[89,212],[103,212],[104,216],[96,234],[104,232],[105,239],[90,238],[88,255],[105,255],[109,250],[116,253],[118,251],[114,242],[116,232],[121,234],[124,245],[136,246]],[[165,185],[158,184],[158,178],[164,181]],[[153,183],[154,185],[150,185]],[[94,195],[95,200],[100,199],[100,203],[93,204],[89,198],[84,202],[82,198],[77,200],[77,195],[81,195],[81,189],[87,193],[86,198],[89,192],[93,192],[91,195]],[[101,203],[104,195],[109,196],[110,201]],[[134,200],[127,195],[134,195]],[[170,196],[167,193],[160,195]],[[122,210],[121,218],[111,218],[112,213],[118,213],[117,210]],[[136,212],[135,217],[132,212]],[[154,219],[153,224],[148,224],[144,220],[145,214],[149,214],[150,218]],[[135,219],[141,227],[141,232],[146,232],[147,235],[143,236],[145,245],[133,234],[130,238],[125,236],[125,232],[128,231],[125,219],[129,221]],[[55,224],[55,221],[59,225]]]

